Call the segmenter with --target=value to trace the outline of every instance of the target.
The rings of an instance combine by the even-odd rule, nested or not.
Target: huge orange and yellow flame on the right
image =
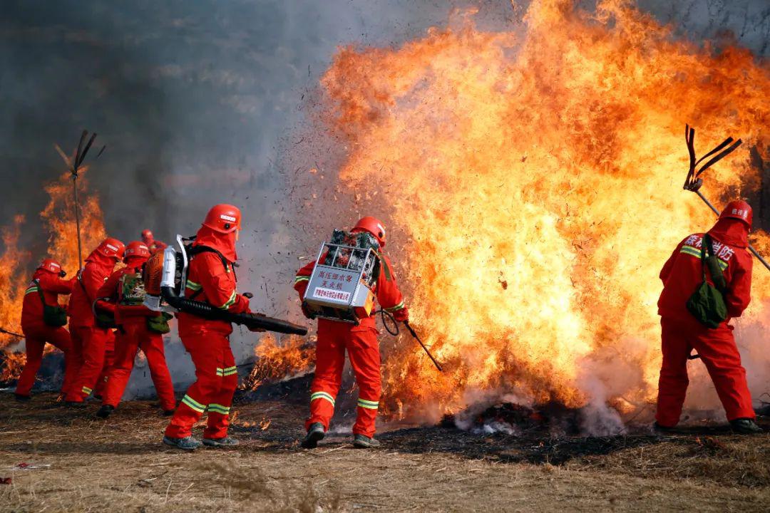
[[[348,148],[340,181],[390,218],[413,325],[447,368],[402,345],[386,413],[433,418],[490,390],[579,406],[595,376],[608,401],[654,398],[658,271],[714,219],[681,189],[685,123],[701,153],[745,142],[707,195],[755,188],[765,65],[678,41],[624,0],[593,14],[534,0],[511,32],[466,16],[401,48],[341,48],[322,85]],[[767,320],[768,278],[755,272],[743,322]]]

